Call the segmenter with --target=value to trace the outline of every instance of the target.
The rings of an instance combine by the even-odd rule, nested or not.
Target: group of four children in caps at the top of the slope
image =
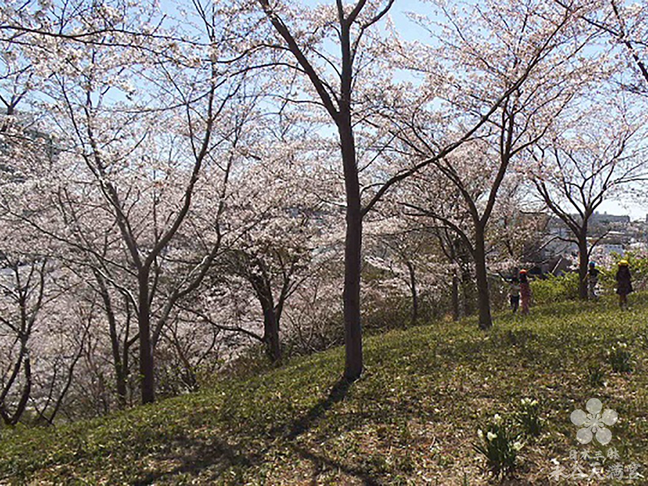
[[[587,272],[587,288],[590,300],[599,298],[596,287],[599,283],[600,270],[596,268],[596,262],[590,262]],[[511,279],[506,279],[509,283],[509,295],[511,298],[511,310],[513,314],[521,308],[523,315],[529,314],[529,305],[531,303],[531,287],[529,286],[529,272],[524,268],[520,270],[519,276],[514,275]],[[619,306],[622,309],[628,307],[628,294],[632,292],[632,277],[628,260],[621,260],[618,263],[616,272],[616,293],[619,295]]]

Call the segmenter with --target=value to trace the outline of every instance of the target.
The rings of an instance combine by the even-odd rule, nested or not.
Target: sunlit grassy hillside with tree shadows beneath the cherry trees
[[[525,397],[542,434],[520,439],[509,483],[549,483],[552,459],[570,465],[576,448],[614,446],[621,463],[648,467],[646,297],[628,312],[611,300],[534,308],[487,333],[466,321],[375,336],[351,386],[334,349],[105,419],[5,430],[0,483],[484,484],[478,429],[515,417]],[[613,347],[631,373],[612,371]],[[608,446],[575,441],[570,413],[592,397],[619,414]]]

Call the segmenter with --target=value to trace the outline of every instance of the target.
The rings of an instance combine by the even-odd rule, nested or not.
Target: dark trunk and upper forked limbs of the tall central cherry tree
[[[284,46],[297,62],[297,69],[307,76],[317,93],[319,102],[323,105],[330,119],[335,123],[339,139],[342,167],[345,181],[347,233],[345,239],[345,281],[343,291],[343,307],[345,322],[345,371],[349,380],[354,380],[362,373],[362,330],[360,327],[360,273],[362,248],[362,216],[364,210],[360,198],[360,179],[358,177],[358,160],[353,129],[353,90],[354,62],[362,50],[362,38],[365,32],[384,17],[393,0],[382,6],[369,5],[361,0],[353,6],[345,7],[341,2],[332,8],[320,8],[321,18],[316,19],[312,27],[319,30],[329,26],[324,34],[318,34],[315,41],[304,36],[295,37],[294,32],[301,29],[291,29],[286,24],[290,16],[281,5],[271,5],[268,0],[259,0],[259,5],[265,12],[268,21],[276,30]],[[317,15],[317,14],[316,14]],[[333,27],[334,26],[334,27]],[[309,26],[310,27],[310,26]],[[308,29],[310,30],[310,29]],[[315,31],[316,31],[315,30]],[[312,57],[320,55],[316,43],[337,32],[340,47],[340,60],[329,60],[330,65],[318,70],[313,64]],[[330,66],[337,73],[337,87],[327,80]],[[339,69],[338,69],[339,66]],[[318,72],[319,71],[319,72]]]

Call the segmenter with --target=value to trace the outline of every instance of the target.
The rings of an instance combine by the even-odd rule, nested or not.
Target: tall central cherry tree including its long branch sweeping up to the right
[[[551,12],[551,19],[542,21],[540,14],[537,14],[534,17],[534,22],[529,23],[526,29],[517,30],[511,29],[509,25],[494,25],[495,21],[491,19],[492,30],[490,32],[494,33],[497,32],[496,29],[503,29],[502,32],[507,32],[507,36],[511,34],[511,39],[502,40],[502,45],[494,47],[489,52],[480,52],[481,48],[476,49],[479,44],[488,45],[488,42],[478,40],[479,36],[476,30],[474,32],[470,31],[467,25],[462,27],[466,29],[465,33],[467,35],[474,34],[474,38],[470,38],[470,45],[465,45],[466,43],[461,40],[463,30],[452,32],[454,27],[450,27],[452,36],[459,41],[457,45],[463,43],[455,51],[457,54],[454,58],[455,66],[460,66],[457,72],[461,72],[465,62],[468,60],[471,65],[476,65],[477,70],[485,69],[488,71],[490,69],[493,71],[492,76],[489,76],[488,81],[483,84],[481,89],[471,91],[471,93],[475,93],[474,97],[465,98],[461,107],[461,115],[459,115],[463,125],[460,128],[456,127],[457,130],[452,132],[451,136],[441,139],[438,143],[427,145],[425,150],[419,152],[421,158],[415,163],[392,167],[391,170],[386,172],[386,177],[385,172],[380,170],[373,172],[373,178],[366,181],[363,188],[363,183],[360,181],[362,170],[384,153],[384,149],[389,145],[388,142],[385,142],[386,140],[394,137],[402,138],[401,128],[397,124],[393,125],[393,117],[389,117],[389,122],[384,122],[386,117],[382,119],[382,122],[377,119],[371,121],[371,118],[375,117],[376,112],[380,110],[383,103],[396,110],[391,98],[398,98],[398,106],[401,108],[410,104],[420,106],[421,103],[430,103],[441,91],[441,85],[454,86],[454,82],[451,80],[452,76],[443,79],[443,75],[439,75],[439,73],[447,72],[446,67],[448,64],[434,62],[432,64],[434,67],[431,69],[429,62],[434,59],[434,56],[430,55],[429,52],[422,53],[422,49],[419,48],[411,49],[411,52],[410,49],[400,49],[398,55],[395,56],[391,53],[393,49],[386,47],[388,43],[380,39],[378,34],[372,35],[376,31],[376,23],[388,14],[392,2],[367,3],[360,1],[349,6],[344,6],[338,2],[336,6],[332,7],[321,6],[314,10],[303,10],[301,16],[291,13],[286,5],[280,3],[270,3],[266,0],[260,0],[259,3],[268,22],[275,30],[276,36],[270,38],[270,40],[259,41],[256,47],[270,45],[279,52],[290,52],[293,63],[283,57],[277,60],[276,64],[281,67],[288,64],[289,67],[296,69],[307,80],[311,89],[307,100],[300,99],[295,100],[295,102],[314,102],[322,106],[325,113],[329,115],[330,121],[335,124],[340,143],[347,211],[346,267],[343,292],[346,347],[344,374],[347,379],[353,380],[362,373],[360,268],[362,260],[362,220],[365,214],[371,211],[376,203],[382,200],[383,196],[400,181],[430,164],[443,165],[440,161],[457,146],[476,135],[476,132],[487,124],[500,106],[509,104],[510,109],[511,100],[516,96],[519,97],[520,89],[531,72],[535,71],[538,65],[544,63],[548,53],[553,51],[556,45],[561,42],[559,37],[562,35],[562,31],[570,25],[572,16],[565,14],[562,10],[556,12],[554,9]],[[519,21],[518,27],[524,23],[525,17],[529,19],[533,15],[533,8],[535,8],[535,5],[526,6],[526,8],[511,6],[510,10],[513,18]],[[491,6],[491,11],[496,11],[494,5]],[[303,25],[296,23],[291,25],[290,21],[288,21],[290,17],[301,17],[306,20]],[[452,23],[454,19],[450,18],[449,20],[448,25],[457,25]],[[463,24],[467,23],[468,20],[465,19]],[[311,35],[308,32],[314,32],[315,34]],[[518,40],[517,45],[516,39]],[[511,45],[506,45],[509,40]],[[337,54],[327,51],[327,47],[330,47],[331,44],[339,49]],[[448,44],[450,44],[449,41]],[[400,46],[402,46],[402,43]],[[490,64],[490,59],[497,59],[498,54],[502,57],[503,52],[506,52],[508,56],[511,47],[513,48],[513,55],[503,60],[503,66]],[[448,50],[451,49],[452,46],[449,45]],[[459,55],[459,52],[462,54]],[[487,57],[484,58],[481,54],[485,54]],[[372,69],[369,67],[371,62],[364,62],[360,64],[362,65],[362,69],[360,69],[356,62],[358,59],[364,59],[365,56],[376,60],[389,58],[389,65],[376,63]],[[470,60],[471,57],[472,60]],[[430,83],[429,89],[423,90],[424,93],[419,99],[407,100],[407,97],[402,92],[399,95],[394,95],[394,90],[390,87],[393,86],[393,75],[390,73],[393,73],[392,69],[395,68],[430,73],[429,80],[434,82]],[[494,82],[494,77],[497,75],[500,78],[498,82]],[[373,83],[369,82],[369,78],[373,79]],[[377,80],[380,80],[380,82]],[[361,94],[364,81],[369,82],[373,87],[373,89],[366,90],[366,96]],[[400,87],[400,91],[407,93],[408,89],[411,89],[411,84],[405,85]],[[485,92],[486,86],[488,86],[489,93]],[[496,95],[494,96],[492,96],[493,87],[496,87]],[[312,93],[313,89],[315,93]],[[415,93],[420,94],[418,90],[415,90]],[[466,93],[466,91],[462,90],[461,93],[464,96],[463,93]],[[311,94],[312,96],[310,96]],[[378,102],[372,99],[375,97],[378,98]],[[424,101],[421,101],[422,99]],[[476,100],[481,100],[484,104],[477,107],[472,103]],[[467,103],[467,101],[470,102]],[[371,108],[367,109],[367,106]],[[476,116],[472,119],[470,117],[466,118],[466,113]],[[457,116],[456,113],[453,116]],[[413,117],[413,119],[417,119],[417,117]],[[390,123],[391,126],[389,126]],[[360,129],[362,124],[375,128],[374,132],[371,133],[369,129],[363,132]],[[450,135],[446,130],[445,133]],[[358,146],[356,146],[356,135],[358,134],[361,135],[360,140],[369,143],[368,146],[362,146],[363,150],[360,152],[358,152]],[[419,133],[416,136],[419,137],[418,140],[421,139]],[[376,146],[380,145],[379,141],[381,139],[384,141],[383,148],[376,148]],[[374,150],[369,147],[373,147]],[[367,160],[359,161],[359,153],[364,155]],[[382,176],[379,175],[381,172]],[[505,172],[505,169],[503,172]],[[362,204],[361,189],[367,190],[365,194],[368,194],[367,202],[364,205]],[[496,191],[494,191],[495,193]],[[487,213],[490,213],[490,211],[491,209],[487,210]],[[485,285],[484,282],[481,284],[482,286]],[[481,292],[481,294],[480,300],[484,303],[487,300],[487,294],[484,292]],[[486,304],[483,304],[482,307],[482,325],[489,327],[491,319],[489,312],[487,312],[488,307]]]

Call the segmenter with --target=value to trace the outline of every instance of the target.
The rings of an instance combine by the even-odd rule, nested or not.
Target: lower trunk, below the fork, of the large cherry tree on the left
[[[152,403],[156,399],[153,349],[151,347],[151,315],[148,302],[148,270],[139,272],[138,284],[139,374],[142,386],[142,403],[146,404]]]

